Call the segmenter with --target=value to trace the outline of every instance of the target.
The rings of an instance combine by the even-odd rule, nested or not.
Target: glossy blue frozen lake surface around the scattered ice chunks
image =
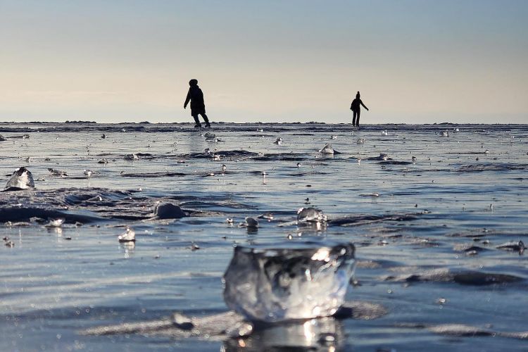
[[[525,348],[513,333],[528,331],[527,125],[216,124],[213,141],[189,126],[0,125],[0,186],[25,166],[36,188],[0,193],[1,351],[324,349],[332,339],[343,349]],[[340,153],[319,152],[329,143]],[[164,203],[181,212],[157,216]],[[325,226],[297,224],[310,207]],[[248,217],[258,227],[238,226]],[[46,226],[57,219],[61,227]],[[135,244],[117,239],[127,226]],[[327,240],[356,246],[346,300],[386,315],[271,327],[243,341],[79,334],[175,311],[225,313],[221,277],[234,245]]]

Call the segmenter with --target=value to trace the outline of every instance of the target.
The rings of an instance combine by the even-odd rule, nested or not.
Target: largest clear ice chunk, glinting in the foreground
[[[353,244],[237,246],[224,300],[252,321],[281,322],[333,315],[355,268]]]

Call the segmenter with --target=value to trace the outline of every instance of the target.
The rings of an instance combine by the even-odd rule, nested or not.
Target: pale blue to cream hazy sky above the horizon
[[[0,122],[528,123],[528,1],[0,0]]]

